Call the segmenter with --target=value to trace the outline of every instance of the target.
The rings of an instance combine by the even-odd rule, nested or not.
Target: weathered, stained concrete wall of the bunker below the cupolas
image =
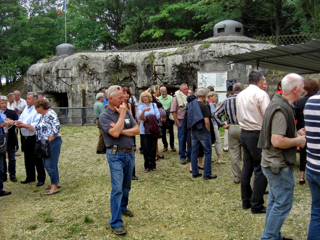
[[[33,86],[34,91],[43,90],[47,94],[67,93],[69,107],[82,106],[84,89],[85,105],[92,106],[96,93],[114,84],[130,86],[137,97],[141,91],[155,83],[166,87],[178,87],[181,83],[187,83],[196,87],[196,79],[188,72],[189,61],[197,62],[191,64],[191,71],[228,71],[229,79],[237,79],[245,84],[248,82],[251,66],[227,64],[214,57],[273,47],[244,36],[218,36],[206,40],[216,43],[202,42],[144,52],[78,52],[55,56],[32,65],[25,81]],[[164,74],[158,75],[161,80],[154,76],[154,64],[165,65],[156,66],[156,73]],[[133,80],[129,77],[130,68]],[[266,74],[268,70],[262,71]]]

